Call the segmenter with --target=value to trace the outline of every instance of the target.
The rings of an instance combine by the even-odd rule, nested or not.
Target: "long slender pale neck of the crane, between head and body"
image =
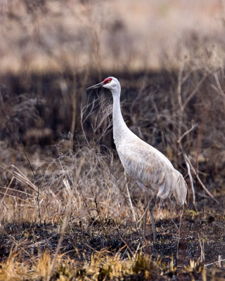
[[[124,136],[129,133],[129,129],[124,122],[122,113],[120,110],[120,89],[115,91],[111,90],[113,93],[113,138],[115,145],[120,145],[120,142],[124,139]]]

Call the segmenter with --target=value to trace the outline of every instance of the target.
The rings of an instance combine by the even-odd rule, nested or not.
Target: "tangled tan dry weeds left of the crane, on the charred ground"
[[[84,157],[84,165],[75,184],[81,157]],[[11,181],[1,187],[1,221],[37,221],[39,208],[42,221],[60,221],[74,184],[70,209],[72,221],[131,220],[127,195],[123,190],[126,182],[122,166],[114,159],[113,152],[106,155],[98,148],[84,147],[77,153],[69,150],[49,162],[35,163],[32,157],[30,161],[36,181],[32,171],[25,175],[16,166],[10,166],[5,171],[8,178],[11,175]],[[64,185],[64,180],[69,184]],[[136,206],[136,211],[140,214],[139,206]]]

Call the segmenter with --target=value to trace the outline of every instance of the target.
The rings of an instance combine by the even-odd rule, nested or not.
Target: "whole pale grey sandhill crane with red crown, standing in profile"
[[[115,77],[108,77],[101,83],[89,87],[110,89],[113,93],[113,138],[118,155],[127,171],[146,195],[146,208],[150,210],[153,239],[155,241],[155,223],[153,207],[157,197],[165,199],[174,196],[178,204],[184,204],[187,185],[183,176],[174,169],[172,163],[159,150],[148,145],[136,136],[125,124],[120,110],[120,82]],[[148,210],[147,209],[147,210]],[[144,237],[146,235],[146,217]]]

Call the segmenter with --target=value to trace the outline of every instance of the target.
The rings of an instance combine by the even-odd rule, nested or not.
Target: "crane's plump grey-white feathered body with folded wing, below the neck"
[[[174,195],[178,204],[184,204],[187,185],[183,176],[165,155],[140,141],[135,140],[117,148],[124,169],[143,185],[157,188],[158,197],[165,199]]]

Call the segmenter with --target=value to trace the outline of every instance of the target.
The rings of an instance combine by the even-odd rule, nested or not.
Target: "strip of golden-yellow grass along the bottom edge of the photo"
[[[20,254],[12,250],[6,261],[0,263],[1,281],[20,280],[168,280],[174,278],[202,278],[214,280],[217,268],[207,271],[199,261],[190,260],[188,266],[178,270],[174,265],[174,258],[162,261],[159,257],[135,253],[128,259],[122,259],[120,253],[109,255],[108,251],[99,251],[91,255],[90,261],[75,261],[59,255],[56,267],[50,276],[52,256],[47,251],[36,258],[21,261]],[[222,276],[219,274],[219,276]]]

